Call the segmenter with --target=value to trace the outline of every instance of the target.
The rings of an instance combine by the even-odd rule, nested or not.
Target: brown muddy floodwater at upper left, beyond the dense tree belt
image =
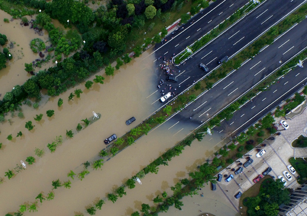
[[[42,39],[45,44],[49,39],[48,32],[43,30],[43,35],[38,35],[30,26],[21,26],[21,19],[12,19],[12,16],[2,10],[0,10],[0,33],[5,34],[8,38],[8,42],[3,48],[8,48],[12,53],[13,58],[7,61],[7,68],[0,70],[0,99],[4,97],[6,92],[10,92],[15,85],[24,84],[31,75],[25,71],[25,63],[31,63],[35,59],[40,58],[38,53],[34,53],[30,49],[30,42],[34,38]],[[26,16],[28,20],[31,20],[30,16]],[[4,18],[8,18],[10,23],[5,23]],[[34,16],[33,16],[34,19]],[[13,48],[10,48],[10,44],[13,44]],[[46,46],[49,44],[47,43]],[[1,52],[3,51],[1,48]],[[44,53],[47,57],[48,53]],[[35,68],[35,72],[49,68],[53,65],[52,61],[43,65],[41,68]]]

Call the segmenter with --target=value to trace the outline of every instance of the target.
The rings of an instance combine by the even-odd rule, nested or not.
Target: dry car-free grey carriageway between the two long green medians
[[[206,113],[206,111],[209,109],[211,112],[222,110],[225,106],[225,102],[235,100],[238,96],[248,91],[254,84],[265,78],[265,76],[271,73],[275,68],[278,68],[280,66],[280,58],[286,60],[286,55],[282,55],[284,52],[287,52],[287,55],[289,55],[287,56],[288,59],[295,55],[297,53],[296,50],[289,50],[289,47],[292,46],[291,42],[288,41],[289,36],[292,36],[291,41],[295,42],[299,49],[303,49],[306,46],[306,41],[301,37],[301,35],[307,33],[307,28],[305,28],[305,26],[307,26],[306,21],[307,20],[304,20],[300,25],[297,25],[295,28],[291,29],[291,31],[288,31],[275,41],[274,44],[255,56],[253,60],[248,61],[240,69],[229,74],[226,78],[217,83],[206,94],[203,94],[203,96],[201,96],[203,98],[192,103],[191,107],[194,110],[194,113],[191,114],[192,118],[195,116],[198,118],[201,116],[207,117],[207,119],[210,118],[211,115],[214,115],[215,113],[210,114]],[[289,44],[286,46],[284,41],[288,41]],[[278,52],[278,49],[281,52]],[[208,103],[205,103],[206,101]],[[202,106],[201,109],[199,109],[200,106]],[[204,112],[206,113],[205,116]],[[201,119],[201,121],[207,119]]]

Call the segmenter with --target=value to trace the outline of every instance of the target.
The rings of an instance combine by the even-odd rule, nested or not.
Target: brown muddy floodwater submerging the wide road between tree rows
[[[113,133],[118,137],[122,136],[161,105],[153,103],[159,98],[158,93],[149,96],[157,90],[157,77],[152,63],[154,57],[148,56],[150,52],[145,52],[142,57],[122,67],[115,76],[106,77],[104,84],[95,83],[91,90],[86,90],[82,83],[59,97],[44,96],[38,110],[23,105],[24,119],[19,119],[16,114],[14,117],[11,114],[6,116],[6,121],[1,124],[0,134],[0,142],[3,143],[0,150],[0,177],[4,179],[4,183],[0,185],[1,215],[16,212],[19,205],[32,204],[39,193],[47,196],[52,189],[52,181],[68,181],[67,174],[70,170],[78,174],[83,170],[83,162],[99,159],[99,151],[105,148],[105,138]],[[102,71],[98,74],[103,73]],[[83,94],[80,98],[68,102],[68,96],[75,89],[81,89]],[[64,100],[60,108],[57,107],[58,98]],[[55,115],[48,118],[47,110],[54,110]],[[100,113],[101,118],[77,133],[77,124],[82,124],[81,119],[90,118],[93,115],[92,111]],[[42,120],[35,122],[33,117],[40,113],[43,114]],[[136,117],[136,122],[125,125],[125,120],[132,116]],[[30,132],[25,128],[25,123],[29,120],[35,125]],[[128,178],[182,140],[195,127],[189,123],[180,122],[174,125],[175,123],[172,119],[165,122],[111,160],[104,161],[101,169],[94,170],[89,167],[90,174],[82,181],[75,177],[71,180],[70,189],[55,189],[54,200],[43,201],[42,204],[38,202],[37,212],[28,211],[24,215],[88,215],[86,208],[100,199],[105,199],[107,193],[112,193]],[[70,129],[74,132],[72,139],[65,135],[66,130]],[[23,136],[16,138],[19,131]],[[14,137],[12,141],[6,139],[9,134]],[[47,144],[60,135],[64,138],[63,144],[51,154]],[[137,184],[134,189],[126,189],[127,195],[119,198],[115,204],[105,200],[102,210],[98,210],[96,215],[130,215],[140,210],[142,203],[153,206],[154,197],[164,190],[171,194],[170,186],[180,179],[188,178],[190,171],[204,163],[206,158],[218,149],[215,145],[219,141],[219,137],[207,135],[202,142],[193,142],[181,156],[173,158],[168,166],[161,166],[157,175],[148,174],[142,179],[142,185]],[[45,149],[46,154],[38,158],[34,155],[35,147]],[[16,164],[20,164],[20,160],[25,161],[29,156],[36,159],[33,165],[27,164],[26,170],[15,172],[16,175],[11,180],[4,177],[5,171],[13,169]],[[204,190],[208,192],[202,200],[195,200],[200,199],[198,196],[184,198],[184,211],[176,211],[177,209],[171,207],[164,215],[183,215],[183,212],[199,215],[199,210],[221,216],[236,215],[225,197],[212,193],[208,186]],[[200,203],[201,209],[195,208],[193,202]]]

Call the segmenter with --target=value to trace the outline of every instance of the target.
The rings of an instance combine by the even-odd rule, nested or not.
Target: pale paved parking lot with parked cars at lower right
[[[276,122],[279,122],[281,118],[276,119]],[[283,118],[284,119],[284,118]],[[293,117],[292,119],[287,119],[289,124],[289,129],[286,131],[280,131],[281,135],[274,135],[275,140],[266,140],[264,143],[267,144],[261,149],[266,150],[266,154],[260,158],[256,157],[257,151],[253,149],[247,155],[252,155],[251,158],[254,160],[251,165],[243,169],[238,175],[234,174],[234,171],[231,169],[224,169],[220,172],[223,175],[222,182],[217,182],[217,191],[218,193],[224,194],[231,204],[238,210],[239,208],[239,199],[235,199],[234,195],[238,191],[244,192],[249,189],[253,184],[253,180],[260,174],[262,174],[265,169],[268,167],[272,168],[272,171],[269,173],[273,178],[277,179],[278,176],[282,175],[284,170],[288,170],[287,166],[290,165],[288,162],[291,157],[307,157],[307,148],[293,148],[291,143],[300,135],[307,136],[307,109],[305,109],[300,115]],[[282,129],[281,126],[278,126],[278,129]],[[243,164],[247,161],[246,157],[240,159],[240,162]],[[238,163],[233,163],[229,166],[230,168],[238,169]],[[289,172],[290,173],[290,172]],[[224,175],[232,174],[234,178],[230,182],[226,182]],[[296,181],[297,174],[292,175],[292,180],[287,181],[286,187],[297,188],[299,184]]]

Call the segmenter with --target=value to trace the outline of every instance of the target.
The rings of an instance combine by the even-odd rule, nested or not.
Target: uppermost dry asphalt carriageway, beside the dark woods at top
[[[248,1],[239,0],[231,1],[216,1],[208,8],[205,8],[201,13],[191,18],[187,24],[183,25],[182,31],[166,36],[166,41],[163,44],[159,43],[155,46],[156,56],[161,56],[169,49],[172,53],[178,54],[186,46],[198,40],[211,29],[219,25],[223,20],[231,16],[238,8],[243,7]],[[191,21],[193,23],[191,24]],[[169,56],[167,56],[169,57]]]

